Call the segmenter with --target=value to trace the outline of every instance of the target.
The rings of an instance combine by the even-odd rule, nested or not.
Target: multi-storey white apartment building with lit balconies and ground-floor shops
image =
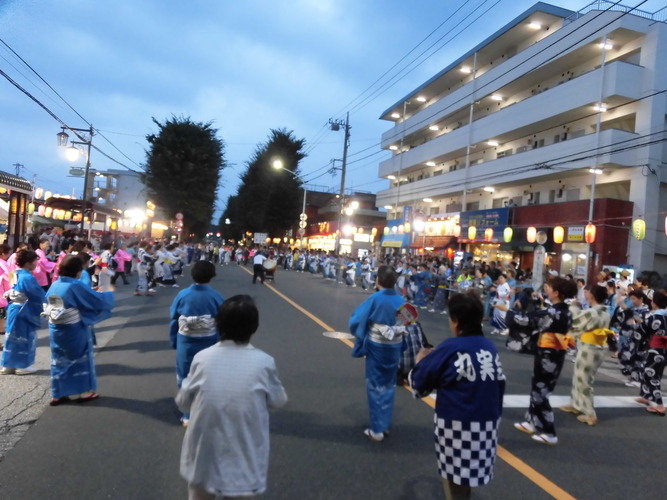
[[[667,272],[666,14],[535,4],[382,114],[393,154],[379,167],[390,186],[378,207],[394,224],[424,214],[436,249],[460,229],[467,251],[530,267],[532,226],[562,273]],[[643,240],[632,236],[637,218]]]

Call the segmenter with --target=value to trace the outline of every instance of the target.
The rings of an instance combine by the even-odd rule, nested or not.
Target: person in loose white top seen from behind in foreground
[[[269,410],[287,403],[274,359],[250,343],[259,325],[252,298],[226,300],[216,325],[220,342],[197,353],[176,396],[191,415],[180,465],[190,500],[264,493]]]

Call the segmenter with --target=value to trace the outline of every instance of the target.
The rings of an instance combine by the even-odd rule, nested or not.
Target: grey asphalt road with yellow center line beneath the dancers
[[[269,489],[263,498],[441,498],[432,408],[399,389],[391,436],[380,444],[368,441],[361,433],[368,421],[364,363],[350,356],[348,345],[322,335],[327,329],[346,331],[350,313],[368,292],[280,271],[270,286],[252,285],[243,268],[218,269],[213,286],[225,297],[247,293],[256,299],[260,328],[252,342],[275,357],[290,398],[271,416]],[[181,280],[182,286],[189,283]],[[173,403],[174,351],[167,328],[177,291],[161,288],[152,298],[132,297],[130,287],[119,287],[115,317],[98,328],[108,343],[96,357],[102,394],[97,401],[48,407],[45,332],[39,374],[0,378],[0,443],[6,451],[0,498],[187,497],[178,474],[183,429]],[[424,313],[420,320],[431,343],[449,334],[444,316]],[[527,394],[532,360],[507,352],[502,338],[494,341],[507,394]],[[566,363],[557,395],[568,394],[572,366]],[[619,380],[615,361],[606,361],[596,394],[634,396]],[[547,447],[512,428],[524,410],[505,409],[496,477],[476,489],[475,498],[664,494],[667,419],[640,407],[610,407],[598,410],[598,426],[588,427],[557,411],[560,443]]]

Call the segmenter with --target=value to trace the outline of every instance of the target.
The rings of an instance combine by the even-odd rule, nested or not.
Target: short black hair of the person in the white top
[[[220,340],[243,345],[259,327],[259,311],[250,295],[234,295],[222,303],[215,322]]]

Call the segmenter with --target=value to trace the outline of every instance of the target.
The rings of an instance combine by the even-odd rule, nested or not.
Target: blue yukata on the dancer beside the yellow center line
[[[376,433],[387,431],[391,424],[402,337],[398,343],[381,343],[370,338],[370,331],[374,324],[395,325],[396,313],[404,303],[396,290],[383,289],[362,302],[350,318],[350,332],[356,337],[352,355],[366,356],[368,409],[371,430]]]

